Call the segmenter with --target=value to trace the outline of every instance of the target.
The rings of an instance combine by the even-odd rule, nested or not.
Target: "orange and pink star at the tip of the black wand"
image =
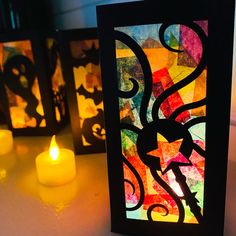
[[[164,136],[157,133],[157,148],[148,152],[148,155],[160,158],[160,167],[163,174],[170,169],[171,163],[179,166],[189,164],[189,160],[179,151],[183,139],[171,143]]]

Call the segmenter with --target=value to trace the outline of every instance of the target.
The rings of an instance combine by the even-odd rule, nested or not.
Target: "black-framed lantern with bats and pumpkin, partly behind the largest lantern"
[[[75,153],[105,152],[97,30],[66,30],[60,34]]]

